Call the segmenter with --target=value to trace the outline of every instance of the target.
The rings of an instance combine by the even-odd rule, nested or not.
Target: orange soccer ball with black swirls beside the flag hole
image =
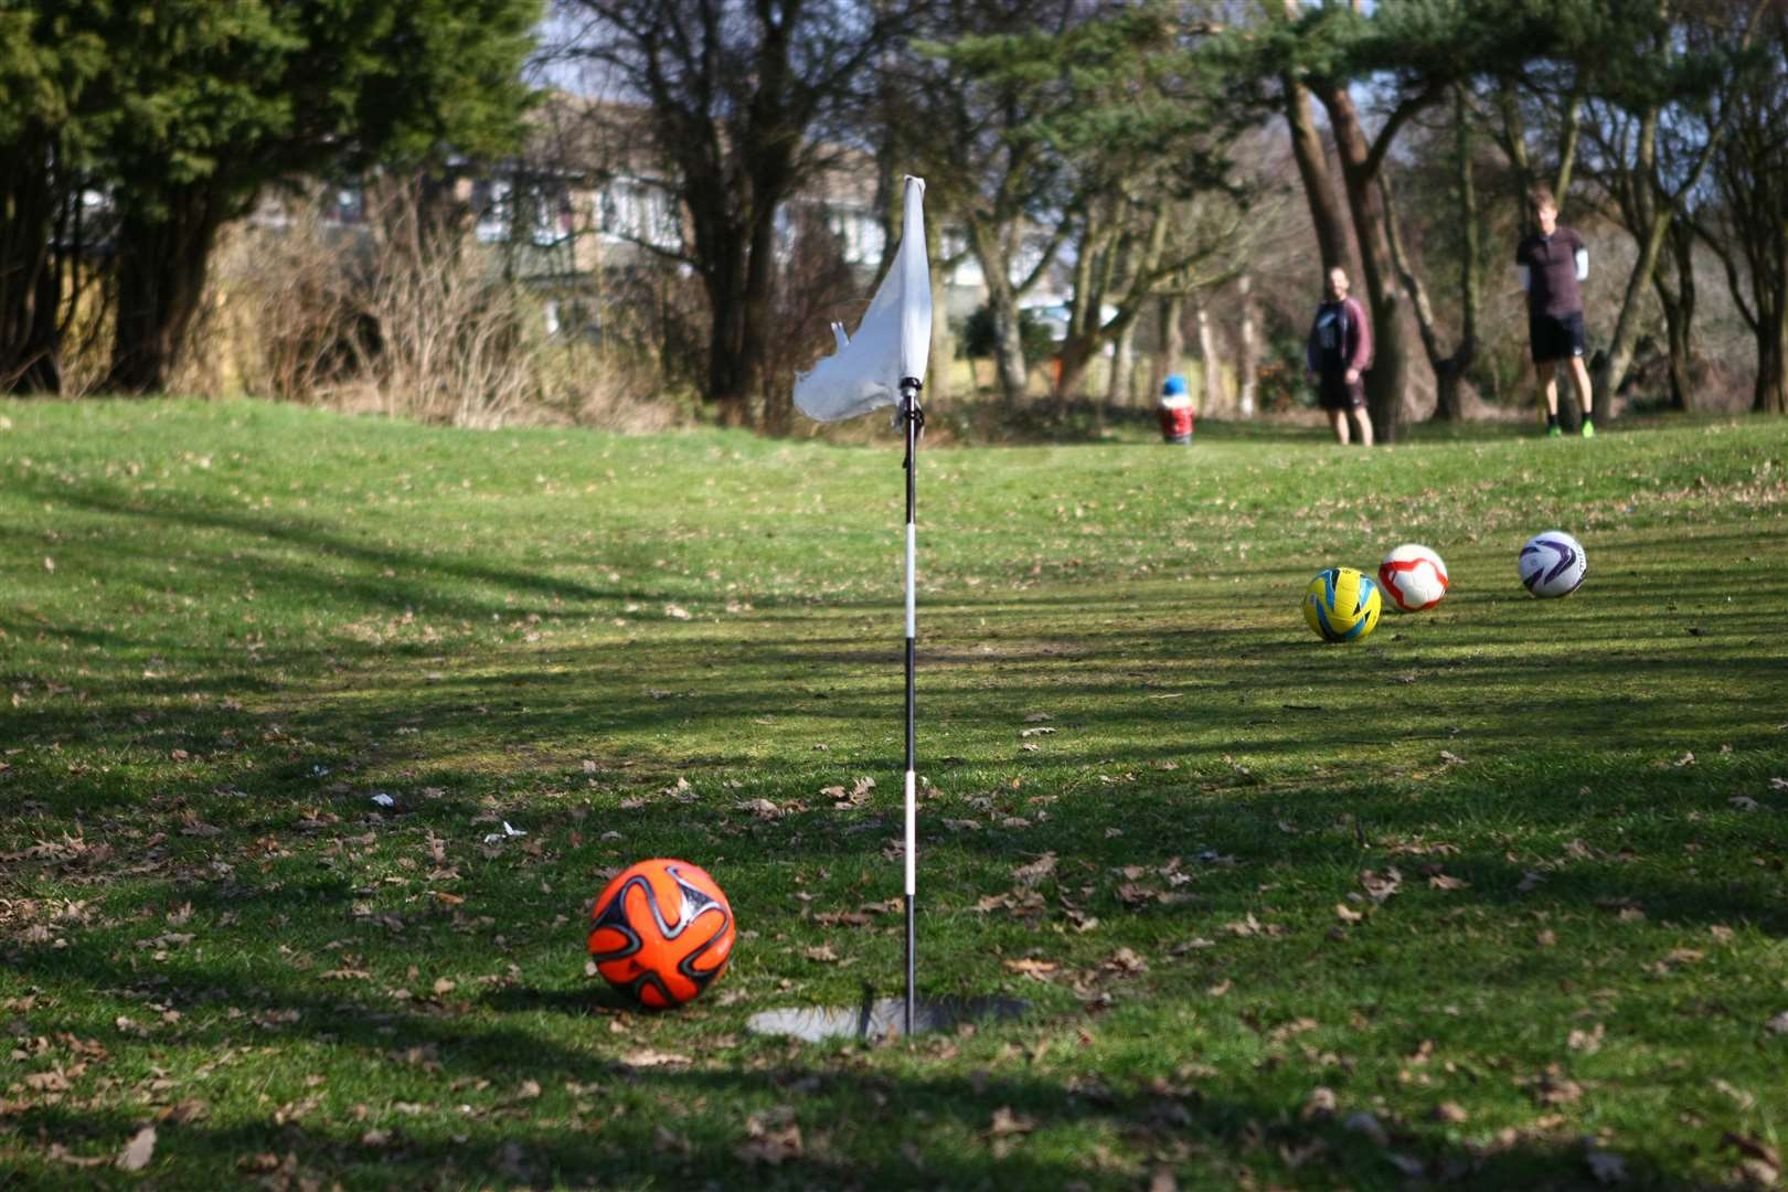
[[[697,865],[651,860],[629,865],[590,910],[597,972],[642,1006],[692,1001],[726,972],[733,908]]]

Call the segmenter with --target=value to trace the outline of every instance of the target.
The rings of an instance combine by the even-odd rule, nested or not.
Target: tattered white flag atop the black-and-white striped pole
[[[901,377],[924,381],[932,354],[932,268],[924,256],[924,179],[907,175],[907,218],[894,268],[869,300],[856,334],[831,325],[839,350],[794,379],[794,404],[840,422],[899,400]]]

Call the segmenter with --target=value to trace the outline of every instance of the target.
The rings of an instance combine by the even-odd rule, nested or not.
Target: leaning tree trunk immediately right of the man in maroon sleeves
[[[1359,238],[1361,273],[1371,300],[1373,365],[1366,374],[1366,400],[1371,429],[1380,443],[1395,443],[1404,418],[1404,388],[1409,384],[1409,338],[1404,332],[1404,304],[1396,291],[1391,248],[1384,227],[1384,198],[1379,193],[1379,166],[1371,159],[1359,111],[1346,88],[1320,91],[1341,155],[1341,179],[1354,213]]]

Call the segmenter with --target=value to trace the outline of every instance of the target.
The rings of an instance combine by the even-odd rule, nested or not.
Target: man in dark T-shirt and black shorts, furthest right
[[[1527,206],[1539,231],[1531,232],[1514,250],[1514,270],[1527,291],[1527,341],[1532,347],[1539,399],[1547,404],[1547,434],[1563,434],[1556,374],[1559,361],[1570,361],[1572,388],[1582,411],[1582,436],[1595,438],[1590,370],[1582,365],[1582,290],[1577,286],[1590,275],[1590,248],[1575,231],[1559,227],[1552,191],[1534,189]]]

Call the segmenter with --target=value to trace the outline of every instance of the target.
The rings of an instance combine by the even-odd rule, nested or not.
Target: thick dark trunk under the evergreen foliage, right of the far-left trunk
[[[105,388],[166,390],[204,297],[222,202],[220,193],[197,182],[166,195],[159,211],[120,213],[118,318]]]

